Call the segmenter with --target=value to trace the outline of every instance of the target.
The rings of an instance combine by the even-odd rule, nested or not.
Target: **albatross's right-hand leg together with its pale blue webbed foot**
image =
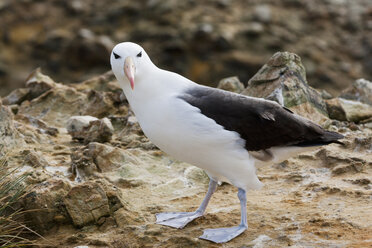
[[[245,190],[239,189],[238,197],[241,208],[241,221],[239,226],[217,229],[206,229],[199,238],[215,243],[225,243],[242,234],[248,228],[247,224],[247,198]]]

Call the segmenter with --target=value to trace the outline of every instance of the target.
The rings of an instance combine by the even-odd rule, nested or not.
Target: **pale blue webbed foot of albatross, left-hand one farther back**
[[[196,212],[168,212],[156,214],[156,224],[171,226],[175,228],[184,228],[188,223],[202,216],[202,213]]]

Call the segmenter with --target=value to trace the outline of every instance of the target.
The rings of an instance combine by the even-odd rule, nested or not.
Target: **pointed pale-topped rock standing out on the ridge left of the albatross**
[[[44,75],[40,68],[33,71],[26,80],[26,87],[29,88],[29,100],[34,99],[48,90],[54,88],[56,83],[49,76]]]

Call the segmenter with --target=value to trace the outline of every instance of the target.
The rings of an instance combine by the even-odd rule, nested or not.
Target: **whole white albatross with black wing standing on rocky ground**
[[[110,62],[144,134],[210,178],[195,212],[158,213],[156,223],[183,228],[205,213],[218,182],[238,188],[240,225],[206,229],[201,239],[224,243],[248,228],[246,191],[262,187],[256,166],[279,163],[343,138],[276,102],[199,85],[160,69],[135,43],[117,44]]]

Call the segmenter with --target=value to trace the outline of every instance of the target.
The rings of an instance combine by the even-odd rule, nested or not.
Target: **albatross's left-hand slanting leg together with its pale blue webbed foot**
[[[203,202],[200,207],[195,212],[168,212],[156,214],[156,224],[161,224],[165,226],[171,226],[175,228],[183,228],[189,222],[202,216],[207,208],[209,200],[211,199],[213,193],[217,189],[217,182],[213,179],[209,181],[209,187],[207,195],[204,197]]]

